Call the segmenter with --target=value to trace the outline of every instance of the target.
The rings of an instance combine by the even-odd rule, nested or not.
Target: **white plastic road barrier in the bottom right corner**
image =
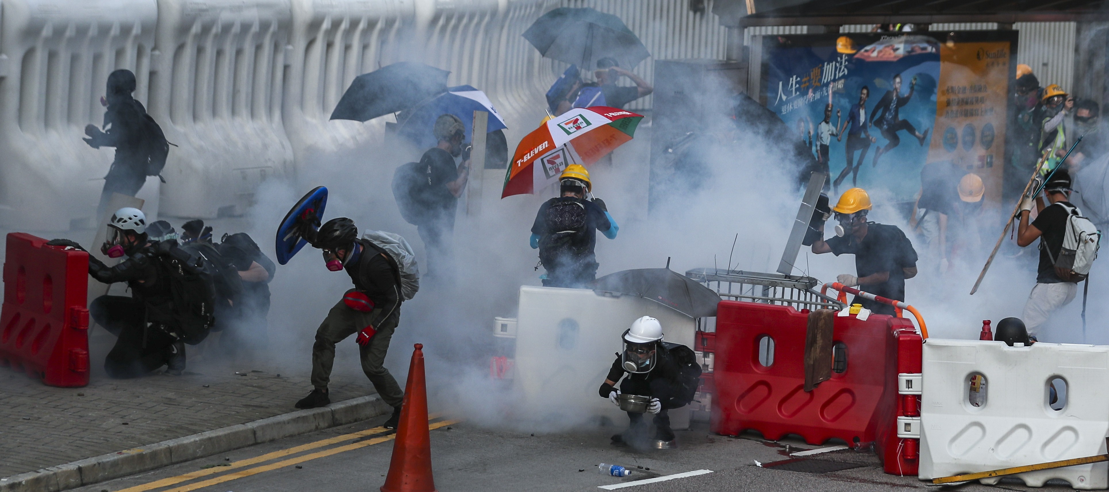
[[[970,378],[985,377],[985,394]],[[945,340],[924,344],[920,480],[1106,453],[1109,346]],[[1050,381],[1059,392],[1049,402]],[[984,402],[983,402],[984,400]],[[978,402],[975,406],[971,401]],[[1075,489],[1109,486],[1109,464],[1015,475],[1029,486],[1060,479]],[[995,484],[1000,478],[983,479]]]

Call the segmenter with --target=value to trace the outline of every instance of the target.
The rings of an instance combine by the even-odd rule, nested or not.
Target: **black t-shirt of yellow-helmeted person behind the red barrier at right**
[[[905,300],[905,273],[902,268],[916,266],[916,250],[897,226],[867,223],[866,236],[863,240],[855,236],[833,237],[827,239],[832,254],[855,255],[855,270],[858,277],[866,277],[882,271],[889,273],[889,279],[882,284],[864,284],[859,290],[882,296],[887,299]],[[894,314],[893,306],[856,297],[852,303],[882,315]]]

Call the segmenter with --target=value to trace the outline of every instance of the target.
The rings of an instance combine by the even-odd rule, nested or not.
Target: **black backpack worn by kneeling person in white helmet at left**
[[[167,328],[185,344],[204,341],[215,325],[215,266],[203,256],[179,247],[175,240],[157,243],[154,253],[172,297],[165,307],[169,312],[163,314],[173,319]]]

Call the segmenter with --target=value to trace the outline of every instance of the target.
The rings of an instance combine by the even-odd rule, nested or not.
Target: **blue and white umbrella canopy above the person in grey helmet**
[[[457,85],[397,115],[397,134],[408,139],[419,148],[435,146],[438,143],[431,132],[435,121],[442,114],[454,114],[466,126],[466,142],[472,142],[475,111],[489,113],[486,131],[496,132],[508,127],[485,92],[470,85]]]

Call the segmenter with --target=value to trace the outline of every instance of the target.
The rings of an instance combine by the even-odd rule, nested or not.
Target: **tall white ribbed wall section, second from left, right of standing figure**
[[[160,0],[150,113],[176,144],[161,211],[245,211],[262,181],[292,171],[282,125],[288,0]]]

